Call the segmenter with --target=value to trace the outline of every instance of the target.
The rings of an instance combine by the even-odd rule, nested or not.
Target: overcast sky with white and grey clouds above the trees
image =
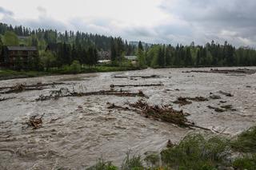
[[[0,0],[0,22],[128,41],[256,47],[255,0]]]

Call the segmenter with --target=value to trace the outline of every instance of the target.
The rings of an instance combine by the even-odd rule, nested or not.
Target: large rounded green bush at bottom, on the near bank
[[[211,170],[224,163],[228,142],[219,136],[206,139],[200,134],[186,136],[180,144],[161,152],[162,162],[176,169]]]

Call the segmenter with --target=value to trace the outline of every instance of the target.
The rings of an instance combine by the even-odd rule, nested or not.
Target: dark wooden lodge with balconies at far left
[[[4,46],[0,55],[0,64],[15,69],[18,62],[26,68],[30,59],[38,57],[36,46]]]

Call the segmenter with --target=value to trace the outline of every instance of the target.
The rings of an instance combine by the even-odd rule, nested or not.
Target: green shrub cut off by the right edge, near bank
[[[238,152],[256,153],[256,126],[238,135],[238,138],[231,142],[231,146]]]

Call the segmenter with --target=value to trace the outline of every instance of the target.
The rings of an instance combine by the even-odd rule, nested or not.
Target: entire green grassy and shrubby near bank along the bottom
[[[90,170],[255,170],[256,127],[230,140],[225,136],[190,134],[160,154],[130,156],[118,167],[102,159]]]

